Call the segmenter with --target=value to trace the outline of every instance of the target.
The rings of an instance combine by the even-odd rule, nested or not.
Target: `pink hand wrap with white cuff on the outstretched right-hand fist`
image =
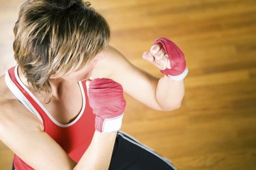
[[[186,67],[185,56],[182,50],[177,45],[165,37],[160,37],[154,41],[153,44],[161,44],[162,50],[164,50],[169,56],[171,69],[161,70],[161,73],[167,75],[171,80],[182,80],[188,74],[188,68]]]

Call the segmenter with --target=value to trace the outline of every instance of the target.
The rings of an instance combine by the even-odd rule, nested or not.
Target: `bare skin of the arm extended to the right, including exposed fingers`
[[[184,97],[184,81],[171,80],[166,75],[156,78],[143,69],[132,65],[120,52],[109,46],[104,59],[98,61],[93,78],[111,78],[122,84],[124,92],[152,109],[171,111],[180,107]],[[143,58],[159,69],[168,68],[169,60],[159,45],[150,52],[144,52]]]

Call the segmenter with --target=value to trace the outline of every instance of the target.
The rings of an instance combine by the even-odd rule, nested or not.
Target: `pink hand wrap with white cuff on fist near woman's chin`
[[[88,95],[89,105],[96,114],[96,131],[118,131],[126,107],[122,85],[111,79],[98,78],[90,82]]]

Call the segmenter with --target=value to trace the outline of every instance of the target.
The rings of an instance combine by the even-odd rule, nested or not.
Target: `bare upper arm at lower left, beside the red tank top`
[[[16,100],[0,103],[0,139],[33,169],[73,169],[76,163],[42,122]]]

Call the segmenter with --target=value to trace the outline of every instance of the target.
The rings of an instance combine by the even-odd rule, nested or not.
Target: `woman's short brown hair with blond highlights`
[[[51,92],[49,78],[77,71],[109,41],[106,20],[89,3],[29,0],[14,27],[14,57],[35,91]]]

